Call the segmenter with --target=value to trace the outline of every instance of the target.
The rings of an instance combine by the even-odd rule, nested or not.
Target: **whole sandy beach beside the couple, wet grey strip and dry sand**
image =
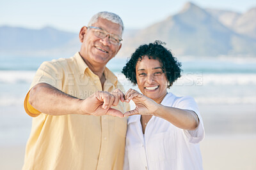
[[[256,106],[199,104],[205,139],[200,143],[205,170],[256,169]],[[0,146],[0,169],[21,169],[24,145]]]

